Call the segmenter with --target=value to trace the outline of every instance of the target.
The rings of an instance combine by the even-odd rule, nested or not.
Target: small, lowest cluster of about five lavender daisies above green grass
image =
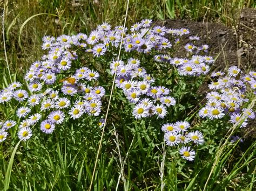
[[[191,148],[192,144],[204,144],[204,136],[200,131],[187,132],[189,129],[190,123],[186,121],[166,123],[161,127],[161,130],[165,133],[164,139],[166,145],[172,147],[178,146],[181,157],[193,161],[196,152]]]

